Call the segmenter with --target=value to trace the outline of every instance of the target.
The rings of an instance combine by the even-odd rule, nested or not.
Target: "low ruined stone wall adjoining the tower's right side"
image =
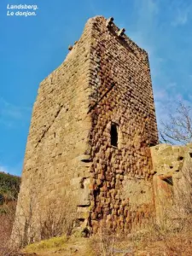
[[[192,211],[192,144],[151,148],[156,223],[168,229],[187,224]]]

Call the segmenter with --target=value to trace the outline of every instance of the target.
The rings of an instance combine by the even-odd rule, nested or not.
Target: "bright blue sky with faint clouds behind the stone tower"
[[[37,4],[37,15],[7,16],[8,3]],[[20,175],[38,84],[95,15],[113,16],[148,51],[159,124],[179,100],[190,104],[190,0],[1,0],[0,171]]]

